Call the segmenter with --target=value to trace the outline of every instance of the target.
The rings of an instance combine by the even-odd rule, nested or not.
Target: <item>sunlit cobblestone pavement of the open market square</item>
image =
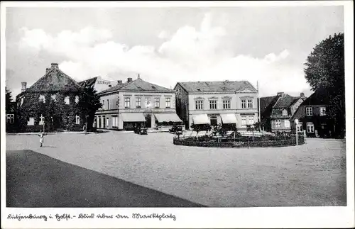
[[[344,140],[279,148],[173,145],[169,133],[6,136],[6,150],[63,162],[206,206],[345,206]]]

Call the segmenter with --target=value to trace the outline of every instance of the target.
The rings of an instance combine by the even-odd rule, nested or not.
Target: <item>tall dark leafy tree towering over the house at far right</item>
[[[327,115],[338,133],[345,130],[344,33],[334,34],[315,46],[305,63],[305,78],[313,91],[325,89],[330,107]]]

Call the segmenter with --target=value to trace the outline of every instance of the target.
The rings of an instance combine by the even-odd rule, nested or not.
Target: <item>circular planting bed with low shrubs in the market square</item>
[[[295,135],[283,137],[241,137],[241,138],[228,138],[228,137],[209,137],[201,136],[196,137],[174,137],[174,145],[186,146],[199,146],[199,147],[283,147],[296,145]],[[298,145],[305,143],[303,135],[298,136]]]

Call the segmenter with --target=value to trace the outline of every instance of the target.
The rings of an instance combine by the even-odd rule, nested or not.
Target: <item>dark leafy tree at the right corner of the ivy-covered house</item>
[[[96,111],[102,107],[100,96],[93,86],[83,87],[83,91],[79,96],[78,108],[80,116],[84,118],[87,123],[87,130],[92,127],[94,123]]]

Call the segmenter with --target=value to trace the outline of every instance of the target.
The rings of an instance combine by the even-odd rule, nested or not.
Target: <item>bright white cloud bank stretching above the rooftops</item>
[[[181,26],[172,35],[163,30],[158,38],[165,41],[157,47],[129,47],[101,28],[64,30],[57,35],[22,28],[19,47],[65,57],[60,69],[78,81],[140,73],[143,79],[166,87],[179,81],[249,80],[255,86],[258,81],[265,96],[307,88],[302,69],[285,65],[292,55],[287,49],[261,58],[238,55],[224,44],[229,38],[224,26],[212,26],[212,21],[213,15],[207,13],[200,28]]]

